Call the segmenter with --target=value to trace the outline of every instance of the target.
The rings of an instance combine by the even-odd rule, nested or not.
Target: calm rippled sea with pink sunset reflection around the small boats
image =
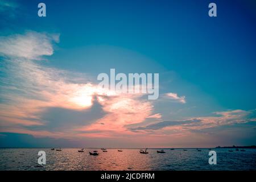
[[[46,166],[38,165],[38,151],[46,152]],[[1,148],[0,170],[256,170],[256,150],[233,151],[214,148],[217,152],[217,165],[209,165],[208,149],[165,149],[158,154],[149,149],[149,154],[140,154],[138,149],[108,149],[98,156],[78,152],[79,148],[63,148],[51,151],[50,148]]]

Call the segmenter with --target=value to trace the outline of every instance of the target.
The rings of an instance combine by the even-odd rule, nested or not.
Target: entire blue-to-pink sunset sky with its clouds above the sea
[[[0,147],[256,144],[256,3],[209,3],[0,0]],[[111,68],[159,98],[99,88]]]

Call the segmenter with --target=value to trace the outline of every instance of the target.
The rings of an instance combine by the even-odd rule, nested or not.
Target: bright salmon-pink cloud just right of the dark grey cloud
[[[102,109],[108,114],[92,125],[82,127],[77,131],[100,131],[101,134],[111,131],[115,134],[131,134],[131,131],[127,130],[125,126],[143,122],[150,116],[153,108],[150,102],[138,100],[136,96],[129,94],[105,97],[104,101],[99,102],[102,104]],[[87,135],[92,135],[92,133]]]

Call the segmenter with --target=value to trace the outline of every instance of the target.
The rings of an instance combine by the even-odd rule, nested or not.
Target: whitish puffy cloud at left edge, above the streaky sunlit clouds
[[[24,35],[0,37],[0,54],[30,60],[53,54],[53,42],[59,42],[59,35],[26,32]]]

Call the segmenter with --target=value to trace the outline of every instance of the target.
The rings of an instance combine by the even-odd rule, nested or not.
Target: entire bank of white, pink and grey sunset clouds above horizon
[[[238,109],[166,119],[143,94],[110,92],[86,73],[44,67],[41,62],[58,42],[57,34],[32,31],[0,37],[0,132],[61,139],[135,137],[143,143],[256,121],[255,110]],[[177,93],[163,96],[177,105],[186,103]]]

